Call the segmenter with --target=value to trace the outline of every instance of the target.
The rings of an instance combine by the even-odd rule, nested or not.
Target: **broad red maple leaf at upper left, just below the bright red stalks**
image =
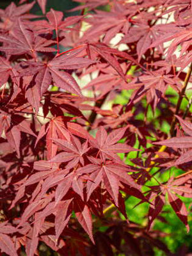
[[[24,72],[20,73],[20,76],[33,76],[28,90],[29,88],[31,88],[31,90],[34,88],[33,93],[35,97],[38,98],[42,97],[52,81],[63,90],[81,96],[81,90],[76,80],[68,74],[68,72],[63,71],[63,69],[83,68],[93,63],[95,63],[95,61],[76,57],[75,55],[72,56],[71,54],[54,58],[46,64],[26,61],[22,63],[22,65],[24,65],[24,67],[27,65],[28,67],[25,68]]]

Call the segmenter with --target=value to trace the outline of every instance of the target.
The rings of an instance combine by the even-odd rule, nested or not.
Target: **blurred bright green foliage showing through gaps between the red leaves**
[[[131,96],[131,92],[132,90],[123,90],[122,93],[120,95],[118,95],[115,99],[115,104],[127,104],[127,102],[129,102],[130,96]],[[186,95],[188,97],[188,99],[192,96],[192,92],[191,91],[187,91]],[[176,93],[171,87],[168,87],[168,89],[166,90],[166,96],[169,97],[169,101],[176,105],[177,104],[177,99],[179,97],[178,93]],[[143,106],[146,108],[147,104],[146,104],[146,99],[143,98],[141,100]],[[188,106],[188,100],[184,99],[182,101],[181,107],[180,109],[184,112],[185,109]],[[163,109],[166,109],[166,104],[162,104],[161,106]],[[135,106],[133,108],[133,112],[136,110],[137,106]],[[190,112],[192,111],[192,108],[190,108]],[[159,119],[158,116],[162,115],[163,113],[161,113],[161,111],[157,108],[155,113],[152,112],[152,108],[148,108],[147,109],[147,122],[153,122],[155,124],[155,127],[157,129],[160,129],[161,131],[165,132],[168,134],[168,131],[170,131],[170,124],[168,124],[168,122],[164,121],[162,124],[159,123]],[[144,120],[144,113],[139,113],[136,116],[136,119],[138,120]],[[150,137],[150,140],[156,140],[156,138]],[[123,141],[120,141],[123,142]],[[139,147],[139,143],[138,140],[136,141],[136,144],[134,145],[134,148],[138,148]],[[148,143],[148,147],[152,147],[152,144]],[[140,147],[140,149],[143,149],[142,147]],[[140,152],[139,154],[141,155],[143,152]],[[122,159],[124,159],[125,154],[118,154]],[[125,163],[130,164],[130,165],[134,165],[131,162],[131,159],[136,158],[137,157],[137,152],[130,152],[129,154],[127,154],[127,158],[125,160]],[[156,173],[158,169],[156,167],[152,168],[152,172],[151,173]],[[172,167],[169,170],[166,170],[163,173],[157,173],[157,175],[155,175],[156,179],[159,180],[160,182],[164,182],[166,180],[169,179],[170,175],[180,175],[182,174],[182,170]],[[157,185],[157,182],[155,179],[152,179],[150,182],[147,182],[148,186],[155,186]],[[147,191],[147,187],[146,189],[144,189],[143,191]],[[191,208],[191,203],[192,200],[191,198],[184,198],[182,196],[180,196],[180,199],[185,202],[186,207],[188,210],[190,210]],[[127,216],[129,218],[129,221],[134,221],[135,223],[138,223],[140,225],[143,225],[143,227],[146,227],[147,225],[147,212],[148,212],[148,207],[149,205],[147,203],[144,204],[140,204],[137,205],[140,202],[140,200],[138,200],[137,198],[134,198],[133,196],[130,196],[126,202],[126,210],[127,210]],[[135,205],[137,205],[136,207],[134,207]],[[178,252],[180,246],[182,246],[183,244],[185,244],[186,246],[188,246],[189,248],[189,252],[192,252],[192,232],[190,231],[189,234],[186,232],[186,227],[183,225],[183,223],[179,220],[179,218],[176,216],[175,212],[173,211],[172,207],[167,203],[166,205],[164,205],[163,207],[163,212],[160,214],[165,222],[160,221],[158,219],[156,219],[154,221],[154,226],[152,227],[153,230],[160,230],[164,233],[167,234],[167,236],[161,238],[162,241],[164,243],[166,243],[166,245],[168,246],[168,248],[170,249],[171,252],[175,253]],[[122,214],[120,214],[122,220],[124,220],[124,216]],[[192,228],[192,214],[189,214],[188,217],[189,220],[189,226]],[[119,255],[119,256],[124,256],[124,255]],[[161,250],[156,248],[156,256],[165,256],[165,254],[163,252],[161,252]]]

